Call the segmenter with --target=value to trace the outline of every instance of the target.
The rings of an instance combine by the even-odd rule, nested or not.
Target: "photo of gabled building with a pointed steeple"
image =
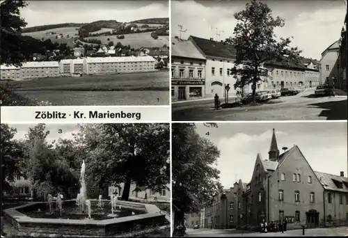
[[[175,237],[347,236],[347,122],[173,123]]]

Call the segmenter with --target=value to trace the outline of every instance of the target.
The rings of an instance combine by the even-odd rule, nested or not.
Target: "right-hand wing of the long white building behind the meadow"
[[[115,74],[155,71],[155,58],[151,56],[84,58],[85,74]]]

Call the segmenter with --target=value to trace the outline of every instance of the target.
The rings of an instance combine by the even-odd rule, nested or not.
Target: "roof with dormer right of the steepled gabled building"
[[[314,172],[317,176],[319,182],[322,184],[324,189],[331,190],[331,191],[342,191],[345,193],[348,193],[348,178],[347,177],[341,177],[338,175],[331,175],[329,173],[322,173],[322,172]],[[335,182],[333,180],[336,180],[338,182],[342,182],[342,189],[338,188]]]

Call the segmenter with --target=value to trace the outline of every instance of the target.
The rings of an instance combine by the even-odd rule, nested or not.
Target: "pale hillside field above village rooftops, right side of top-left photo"
[[[162,47],[163,45],[169,45],[169,36],[159,35],[155,40],[151,36],[151,32],[134,33],[125,35],[125,39],[118,39],[117,35],[102,35],[102,36],[90,36],[86,39],[101,40],[102,43],[107,44],[107,39],[110,39],[115,44],[121,42],[122,45],[130,45],[133,48],[139,47]]]

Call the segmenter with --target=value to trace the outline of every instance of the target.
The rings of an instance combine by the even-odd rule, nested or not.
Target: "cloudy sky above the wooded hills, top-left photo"
[[[30,26],[61,23],[90,23],[99,20],[131,22],[169,17],[168,1],[27,1],[20,15]]]

